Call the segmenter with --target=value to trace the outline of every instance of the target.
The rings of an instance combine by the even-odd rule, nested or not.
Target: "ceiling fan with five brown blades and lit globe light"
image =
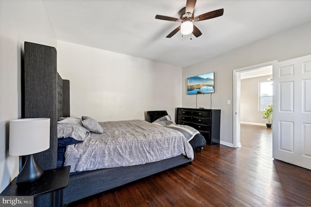
[[[166,36],[167,38],[171,38],[179,30],[182,35],[189,35],[192,33],[195,37],[199,37],[202,35],[202,33],[195,25],[193,25],[193,21],[207,20],[210,18],[220,17],[224,14],[224,9],[218,9],[218,10],[207,12],[203,15],[194,17],[193,12],[194,12],[195,3],[196,3],[196,0],[187,0],[186,7],[182,8],[179,11],[180,18],[167,17],[167,16],[162,16],[162,15],[155,16],[156,19],[181,22],[180,26],[178,26],[169,35]]]

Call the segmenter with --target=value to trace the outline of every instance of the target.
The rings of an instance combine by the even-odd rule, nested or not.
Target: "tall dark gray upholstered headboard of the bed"
[[[57,121],[70,116],[69,81],[57,73],[53,47],[25,42],[22,71],[22,118],[50,118],[50,149],[35,154],[43,170],[56,168]]]

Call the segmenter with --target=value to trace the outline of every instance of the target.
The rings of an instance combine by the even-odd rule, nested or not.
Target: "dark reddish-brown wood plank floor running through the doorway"
[[[241,143],[68,207],[311,206],[311,171],[272,158],[271,129],[242,124]]]

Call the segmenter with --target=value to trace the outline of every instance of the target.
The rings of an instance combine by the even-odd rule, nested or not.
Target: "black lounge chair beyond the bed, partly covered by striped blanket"
[[[168,115],[167,111],[147,111],[147,116],[149,122],[154,122],[155,120]],[[200,148],[203,150],[203,147],[206,145],[206,140],[201,134],[197,134],[189,141],[192,149]]]

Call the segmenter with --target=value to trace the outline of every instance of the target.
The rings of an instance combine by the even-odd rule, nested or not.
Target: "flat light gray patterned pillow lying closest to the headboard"
[[[77,123],[58,123],[57,138],[74,138],[77,141],[83,141],[88,130]]]

